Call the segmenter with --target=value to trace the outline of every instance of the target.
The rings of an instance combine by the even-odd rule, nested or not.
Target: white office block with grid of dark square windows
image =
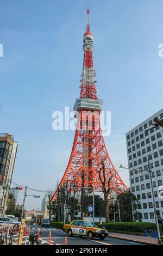
[[[148,158],[156,210],[159,210],[159,217],[163,218],[163,197],[159,193],[163,185],[163,129],[158,126],[147,131],[152,127],[155,117],[162,119],[163,109],[126,133],[130,188],[140,200],[139,211],[143,222],[155,221],[150,178],[148,172],[141,171],[148,169]]]

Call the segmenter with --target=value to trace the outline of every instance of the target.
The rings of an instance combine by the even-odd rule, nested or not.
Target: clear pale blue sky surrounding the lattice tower
[[[111,111],[105,143],[127,165],[125,133],[162,108],[161,0],[90,0],[98,96]],[[53,131],[52,113],[79,96],[87,1],[1,0],[0,132],[14,135],[13,180],[53,190],[65,171],[73,131]],[[129,185],[128,172],[120,172]],[[41,197],[43,195],[41,194]],[[18,198],[22,203],[22,192]],[[27,199],[27,208],[40,207]]]

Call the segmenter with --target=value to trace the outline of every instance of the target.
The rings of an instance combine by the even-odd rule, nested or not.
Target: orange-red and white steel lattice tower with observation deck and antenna
[[[102,182],[108,188],[110,179],[110,197],[128,191],[120,175],[111,162],[100,124],[100,113],[103,101],[98,99],[93,68],[93,35],[90,32],[90,10],[87,9],[86,33],[83,38],[83,73],[80,86],[80,97],[74,104],[74,117],[77,118],[77,128],[73,147],[65,173],[58,185],[59,188],[67,184],[79,187],[94,188],[101,192]],[[54,193],[52,201],[56,199],[58,190]]]

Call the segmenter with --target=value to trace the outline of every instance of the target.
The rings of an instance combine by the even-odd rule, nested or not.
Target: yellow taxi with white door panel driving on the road
[[[74,220],[70,224],[64,224],[63,230],[68,236],[87,236],[89,239],[99,237],[99,239],[104,240],[105,237],[108,236],[107,230],[98,228],[97,225],[91,221]]]

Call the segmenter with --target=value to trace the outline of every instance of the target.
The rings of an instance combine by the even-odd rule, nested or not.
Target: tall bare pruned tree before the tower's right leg
[[[104,193],[105,218],[106,218],[106,222],[109,222],[110,221],[110,218],[109,218],[109,200],[110,200],[110,197],[111,197],[110,183],[111,183],[111,179],[112,179],[113,175],[111,175],[109,177],[108,181],[106,181],[105,164],[104,164],[103,159],[101,161],[101,166],[102,167],[99,170],[97,170],[97,172],[99,174],[99,180],[101,181],[102,191]],[[106,182],[107,182],[108,188],[106,187]]]

